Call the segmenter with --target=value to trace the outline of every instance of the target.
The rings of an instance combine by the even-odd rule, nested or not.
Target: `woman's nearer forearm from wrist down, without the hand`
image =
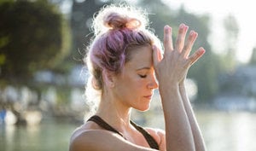
[[[166,121],[166,150],[193,151],[195,144],[178,85],[164,89],[160,96]]]

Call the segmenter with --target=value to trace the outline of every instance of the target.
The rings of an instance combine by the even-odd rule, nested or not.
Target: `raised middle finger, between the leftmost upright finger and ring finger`
[[[187,33],[188,29],[189,29],[189,26],[186,26],[184,24],[181,24],[178,28],[175,49],[179,52],[182,52],[182,50],[183,50],[184,41],[185,41],[185,37],[186,37],[186,33]]]

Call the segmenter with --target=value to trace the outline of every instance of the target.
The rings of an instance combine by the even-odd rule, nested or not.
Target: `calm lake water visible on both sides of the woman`
[[[196,116],[208,151],[256,150],[256,113],[204,111],[196,112]],[[34,127],[0,125],[0,151],[68,150],[70,135],[77,126],[55,121]]]

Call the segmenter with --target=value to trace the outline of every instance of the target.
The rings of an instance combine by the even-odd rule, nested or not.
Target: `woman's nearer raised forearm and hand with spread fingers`
[[[172,46],[172,28],[165,27],[164,47],[165,54],[161,58],[160,51],[154,50],[154,69],[159,81],[160,96],[166,121],[166,150],[193,151],[197,148],[197,138],[194,136],[194,127],[187,112],[187,104],[183,101],[183,92],[180,83],[186,77],[189,67],[204,54],[204,49],[198,49],[189,56],[197,37],[196,32],[190,32],[186,44],[185,35],[188,26],[179,27],[175,48]]]

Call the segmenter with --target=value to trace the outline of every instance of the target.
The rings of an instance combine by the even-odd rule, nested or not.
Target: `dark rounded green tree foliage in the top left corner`
[[[25,80],[54,68],[67,54],[61,14],[47,1],[0,3],[1,78]]]

